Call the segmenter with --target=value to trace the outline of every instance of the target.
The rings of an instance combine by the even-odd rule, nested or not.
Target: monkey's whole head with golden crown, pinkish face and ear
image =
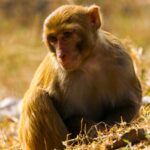
[[[43,37],[61,67],[71,71],[79,68],[94,49],[99,26],[95,8],[66,5],[46,18]]]

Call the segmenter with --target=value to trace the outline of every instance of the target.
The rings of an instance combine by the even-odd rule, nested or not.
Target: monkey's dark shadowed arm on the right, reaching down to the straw
[[[93,138],[97,136],[97,130],[103,131],[106,127],[109,129],[114,124],[125,121],[129,123],[138,115],[138,110],[141,106],[141,85],[136,77],[132,78],[132,82],[129,90],[126,92],[126,96],[122,97],[120,103],[118,101],[118,106],[110,110],[106,110],[105,117],[102,123],[98,123],[92,126],[88,131],[89,137]],[[103,123],[104,122],[104,123]]]

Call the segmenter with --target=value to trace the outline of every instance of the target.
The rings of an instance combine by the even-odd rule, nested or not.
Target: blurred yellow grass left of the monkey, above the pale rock
[[[1,20],[0,20],[1,22]],[[36,28],[0,24],[0,98],[22,97],[40,61],[47,53]],[[7,27],[8,26],[8,27]]]

